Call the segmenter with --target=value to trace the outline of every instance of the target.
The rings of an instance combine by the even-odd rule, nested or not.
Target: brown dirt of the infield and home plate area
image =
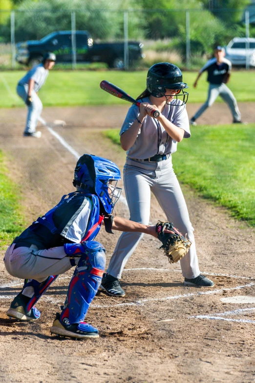
[[[224,116],[218,121],[213,107],[204,119],[231,122],[226,105],[217,104],[217,116]],[[66,120],[66,127],[55,129],[66,143],[80,154],[108,157],[122,171],[125,153],[104,138],[102,129],[120,126],[127,108],[45,108],[43,117]],[[240,105],[247,121],[254,120],[252,108]],[[23,138],[24,119],[25,109],[0,109],[0,149],[8,156],[10,175],[22,186],[25,214],[32,221],[73,190],[76,159],[44,127],[42,139]],[[255,298],[255,231],[188,187],[182,189],[200,269],[211,275],[215,287],[185,287],[179,264],[171,266],[157,240],[145,236],[123,273],[126,296],[100,292],[88,311],[86,320],[99,328],[100,338],[75,341],[49,333],[72,272],[60,276],[42,297],[36,323],[19,323],[5,312],[22,281],[8,275],[1,262],[0,382],[255,382],[255,304],[221,301]],[[123,203],[118,202],[116,213],[128,218]],[[164,215],[152,198],[150,219],[158,218]],[[106,247],[107,262],[117,239],[118,234],[104,230],[97,237]]]

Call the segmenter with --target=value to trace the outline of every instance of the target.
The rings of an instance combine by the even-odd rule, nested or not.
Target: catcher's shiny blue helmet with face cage
[[[76,164],[73,185],[78,191],[96,194],[106,214],[111,214],[122,192],[117,188],[120,179],[120,169],[112,161],[84,154]]]

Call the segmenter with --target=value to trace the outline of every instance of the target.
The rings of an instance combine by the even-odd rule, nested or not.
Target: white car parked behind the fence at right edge
[[[245,37],[234,37],[226,47],[226,58],[232,62],[232,65],[246,65],[246,56],[248,64],[255,67],[255,39]]]

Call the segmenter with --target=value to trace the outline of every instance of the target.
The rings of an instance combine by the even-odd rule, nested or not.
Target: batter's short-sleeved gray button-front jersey
[[[149,97],[139,100],[142,102],[148,102]],[[181,105],[181,100],[173,100],[172,103]],[[132,105],[128,110],[127,117],[122,125],[120,135],[126,132],[127,129],[139,119],[140,110],[136,105]],[[183,106],[172,106],[166,104],[164,111],[162,113],[170,122],[174,125],[182,128],[184,132],[184,138],[191,137],[189,118],[186,111],[186,105]],[[146,116],[141,129],[137,135],[137,139],[133,146],[127,150],[127,157],[131,159],[143,160],[145,158],[153,157],[156,154],[171,154],[176,152],[177,142],[173,140],[163,125],[154,118]]]

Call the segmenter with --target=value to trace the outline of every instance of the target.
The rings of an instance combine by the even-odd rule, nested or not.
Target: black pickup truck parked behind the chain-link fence
[[[76,31],[77,63],[103,62],[109,68],[124,68],[124,43],[93,43],[87,31]],[[133,66],[144,55],[143,44],[128,42],[128,63]],[[16,44],[16,60],[25,65],[34,66],[43,60],[45,52],[54,52],[58,63],[72,62],[71,31],[52,32],[41,40],[30,40]]]

